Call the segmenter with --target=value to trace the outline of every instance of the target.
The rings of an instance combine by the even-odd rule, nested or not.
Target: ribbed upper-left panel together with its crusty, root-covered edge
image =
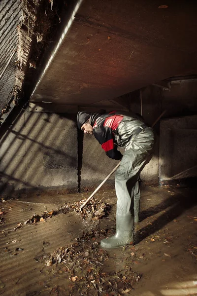
[[[38,0],[0,0],[0,125],[21,98]]]

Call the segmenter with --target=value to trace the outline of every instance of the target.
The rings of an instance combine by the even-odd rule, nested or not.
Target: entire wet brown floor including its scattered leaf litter
[[[168,191],[142,187],[135,245],[112,250],[102,250],[99,242],[115,233],[114,190],[98,196],[112,206],[110,215],[98,221],[79,218],[82,213],[77,211],[83,201],[78,206],[74,202],[85,199],[85,194],[58,199],[47,193],[28,201],[26,197],[0,201],[6,220],[0,225],[4,266],[0,295],[158,296],[161,291],[170,296],[196,295],[196,191],[177,189],[173,197]],[[84,208],[87,214],[88,207],[92,209],[91,202]],[[57,215],[64,212],[68,214]],[[46,216],[33,216],[35,213]],[[24,225],[30,217],[32,221]],[[183,289],[188,283],[190,290]]]

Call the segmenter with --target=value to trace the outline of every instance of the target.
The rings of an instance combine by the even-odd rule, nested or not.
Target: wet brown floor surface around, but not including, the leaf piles
[[[46,266],[39,261],[40,256],[76,243],[77,238],[91,230],[103,231],[91,238],[95,242],[115,232],[115,190],[99,191],[96,195],[95,198],[112,205],[109,216],[99,222],[84,221],[76,213],[67,213],[20,225],[34,214],[55,210],[89,195],[32,194],[0,202],[0,211],[4,212],[0,223],[0,295],[197,295],[197,190],[194,189],[142,186],[135,245],[106,250],[108,259],[99,263],[102,274],[111,272],[120,277],[120,272],[123,276],[127,271],[128,279],[129,268],[132,289],[114,293],[108,293],[106,286],[102,292],[94,287],[91,293],[88,288],[86,292],[74,290],[79,282],[69,279],[69,268],[63,262]]]

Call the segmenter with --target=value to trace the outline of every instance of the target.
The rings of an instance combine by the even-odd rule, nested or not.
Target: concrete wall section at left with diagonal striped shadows
[[[25,111],[7,126],[0,139],[1,194],[34,188],[77,192],[77,129],[72,119]]]

